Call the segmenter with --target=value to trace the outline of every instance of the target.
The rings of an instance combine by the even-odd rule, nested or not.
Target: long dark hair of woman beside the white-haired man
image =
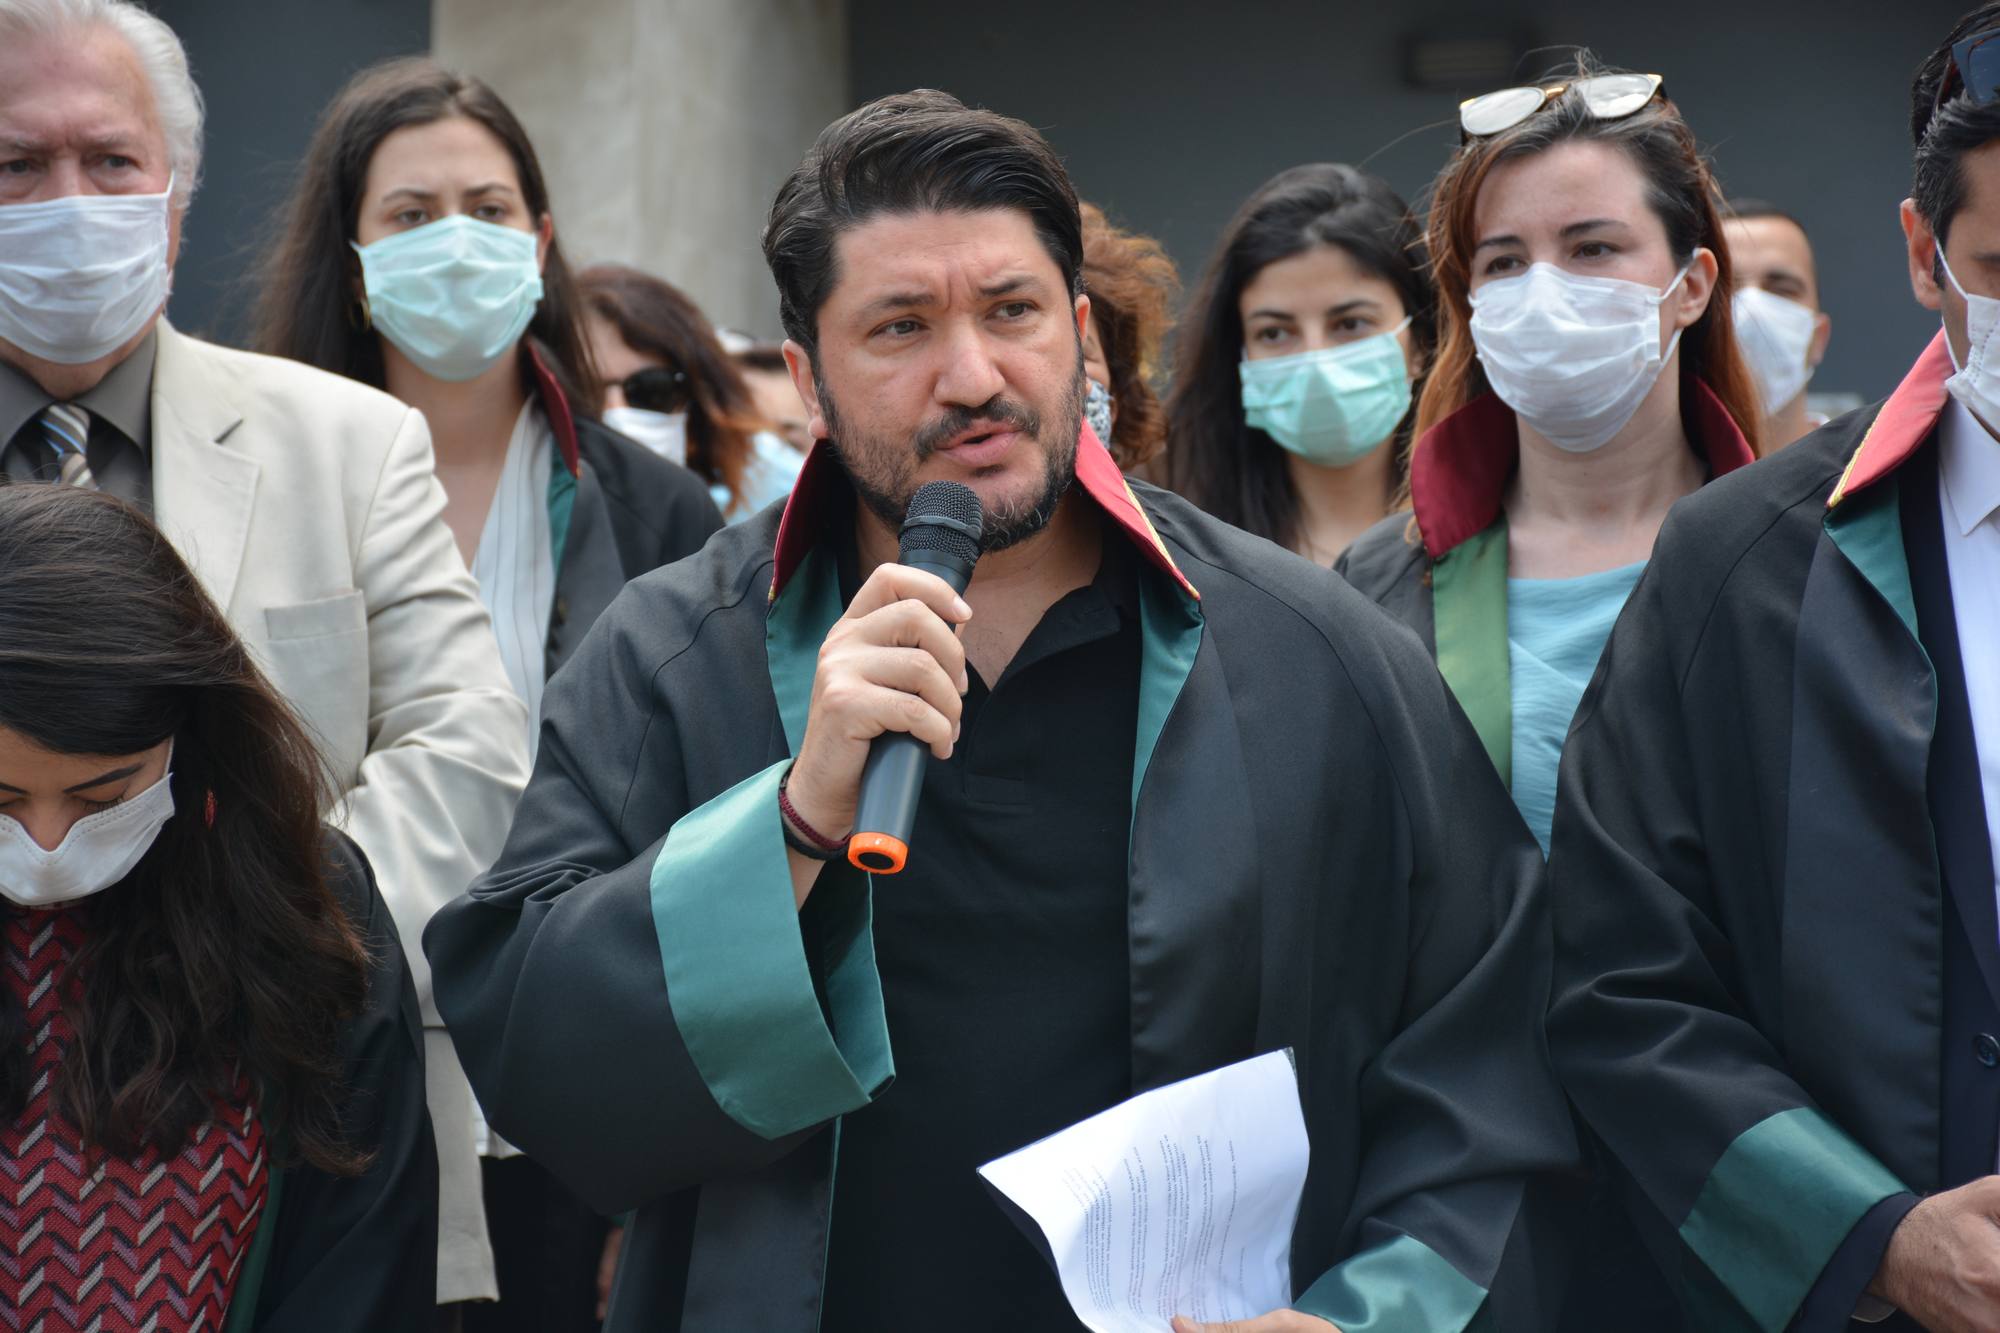
[[[360,224],[368,164],[382,140],[396,130],[452,116],[484,126],[506,146],[528,212],[548,216],[542,162],[520,120],[492,88],[422,56],[374,64],[348,80],[320,116],[298,164],[292,196],[278,214],[278,230],[250,274],[250,344],[256,350],[384,386],[382,340],[362,312],[360,260],[350,246]],[[602,390],[560,236],[548,242],[542,304],[536,306],[526,336],[542,352],[570,408],[594,414]],[[526,358],[520,376],[532,394],[534,372]]]

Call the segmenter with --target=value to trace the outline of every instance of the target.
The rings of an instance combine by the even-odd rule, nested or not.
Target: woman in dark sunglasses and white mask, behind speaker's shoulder
[[[596,264],[578,278],[604,424],[708,482],[736,522],[792,492],[804,456],[766,430],[708,316],[648,272]]]

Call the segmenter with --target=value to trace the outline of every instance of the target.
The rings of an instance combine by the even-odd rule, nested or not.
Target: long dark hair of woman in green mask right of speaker
[[[1298,492],[1286,452],[1244,422],[1238,302],[1258,272],[1314,246],[1346,250],[1396,288],[1410,316],[1416,364],[1428,364],[1438,342],[1424,240],[1386,180],[1340,162],[1312,162],[1278,172],[1236,210],[1180,324],[1174,394],[1166,404],[1166,484],[1216,518],[1280,546],[1296,544]],[[1390,442],[1398,482],[1412,416],[1414,410],[1396,424]]]

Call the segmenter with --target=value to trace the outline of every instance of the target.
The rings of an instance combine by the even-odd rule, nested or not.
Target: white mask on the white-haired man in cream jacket
[[[82,366],[136,338],[166,304],[164,194],[70,194],[0,208],[0,338]]]

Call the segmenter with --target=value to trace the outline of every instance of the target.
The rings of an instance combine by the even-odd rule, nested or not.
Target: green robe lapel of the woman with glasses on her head
[[[1430,566],[1438,675],[1514,787],[1514,681],[1506,650],[1506,516]]]

